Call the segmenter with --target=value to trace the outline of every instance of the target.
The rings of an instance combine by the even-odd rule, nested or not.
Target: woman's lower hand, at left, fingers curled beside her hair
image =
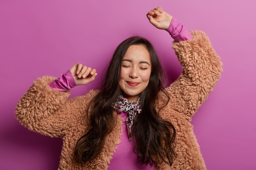
[[[85,85],[92,82],[97,76],[96,69],[83,66],[81,63],[76,63],[70,68],[74,80],[77,85]]]

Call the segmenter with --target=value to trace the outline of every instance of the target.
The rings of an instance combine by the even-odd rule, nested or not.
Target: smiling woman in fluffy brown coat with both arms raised
[[[202,31],[189,33],[161,7],[147,18],[175,40],[184,71],[169,87],[152,44],[132,37],[117,47],[99,90],[68,99],[70,88],[97,76],[74,64],[59,79],[36,80],[19,100],[22,125],[62,137],[60,170],[206,169],[190,121],[220,78],[220,57]]]

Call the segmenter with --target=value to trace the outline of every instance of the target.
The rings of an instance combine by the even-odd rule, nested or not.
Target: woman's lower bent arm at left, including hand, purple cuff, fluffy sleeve
[[[68,88],[88,84],[96,75],[95,69],[75,64],[59,79],[50,76],[38,78],[18,101],[16,118],[29,130],[51,137],[62,136],[72,128],[72,121],[84,113],[81,106],[88,105],[91,99],[90,94],[68,99]]]

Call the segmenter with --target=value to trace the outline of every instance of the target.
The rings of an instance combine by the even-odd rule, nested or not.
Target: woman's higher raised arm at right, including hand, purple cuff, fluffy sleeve
[[[218,82],[222,62],[204,32],[189,33],[178,20],[170,16],[161,7],[147,14],[150,23],[165,29],[174,38],[173,49],[183,72],[166,90],[171,97],[170,104],[175,104],[173,109],[185,114],[190,121]]]

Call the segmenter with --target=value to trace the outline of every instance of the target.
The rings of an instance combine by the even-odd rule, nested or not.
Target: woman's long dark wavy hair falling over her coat
[[[162,119],[158,114],[159,110],[155,108],[159,93],[162,92],[166,96],[166,103],[160,106],[160,109],[166,106],[170,99],[163,84],[166,80],[165,72],[153,45],[140,36],[128,38],[119,44],[110,60],[100,91],[88,106],[88,109],[92,106],[89,129],[76,144],[75,160],[78,163],[95,159],[104,146],[106,135],[115,127],[112,104],[122,94],[119,88],[121,61],[131,45],[145,46],[152,63],[148,86],[140,94],[142,111],[135,117],[132,126],[134,152],[141,164],[152,166],[166,162],[171,166],[173,163],[175,128],[170,121]]]

